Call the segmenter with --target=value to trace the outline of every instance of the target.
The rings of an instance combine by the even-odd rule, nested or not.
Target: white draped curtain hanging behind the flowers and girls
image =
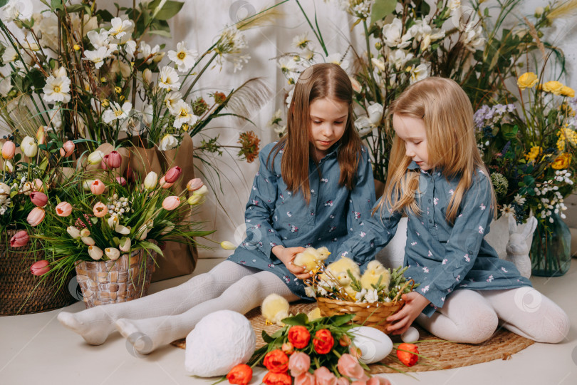
[[[212,45],[214,39],[224,29],[224,26],[234,24],[238,18],[243,18],[259,12],[279,3],[280,0],[185,0],[177,16],[170,21],[172,39],[159,38],[156,36],[149,43],[165,43],[165,51],[174,49],[179,41],[185,41],[189,48],[203,52]],[[432,1],[430,1],[432,2]],[[45,9],[46,6],[36,1],[38,9]],[[121,6],[132,6],[132,1],[118,1]],[[363,29],[361,26],[353,25],[352,16],[348,16],[345,11],[338,6],[339,0],[301,0],[301,4],[311,18],[314,20],[315,11],[318,16],[318,24],[323,33],[328,53],[343,53],[348,43],[352,43],[359,53],[365,51]],[[465,6],[467,1],[462,1]],[[497,4],[495,0],[489,0],[486,4]],[[113,1],[98,1],[100,8],[115,11]],[[537,6],[546,6],[544,0],[526,0],[521,11],[523,14],[531,15]],[[308,38],[315,41],[315,37],[310,27],[306,23],[301,11],[295,1],[288,1],[279,6],[284,16],[271,22],[269,26],[246,31],[246,41],[251,58],[244,65],[241,71],[234,73],[231,63],[225,63],[222,70],[219,67],[212,71],[207,71],[202,76],[201,81],[195,87],[197,95],[209,98],[208,93],[214,91],[230,91],[239,86],[249,78],[261,77],[269,84],[272,96],[260,111],[254,111],[251,120],[256,126],[237,119],[219,118],[206,133],[210,136],[219,135],[219,142],[224,145],[236,145],[238,135],[244,130],[254,130],[261,138],[261,148],[275,140],[274,131],[267,127],[267,122],[274,111],[284,107],[285,90],[287,83],[282,76],[279,67],[272,58],[287,51],[294,51],[291,41],[294,36],[308,32]],[[521,15],[516,15],[521,17]],[[556,21],[547,31],[546,39],[563,49],[567,59],[567,76],[565,82],[568,86],[577,86],[575,76],[577,69],[577,28],[576,19],[566,21]],[[316,41],[315,41],[316,42]],[[318,50],[320,47],[316,44]],[[165,59],[167,61],[167,59]],[[165,62],[163,62],[165,63]],[[530,68],[535,71],[535,68]],[[198,138],[195,138],[198,141]],[[204,221],[205,229],[217,230],[210,238],[217,242],[229,240],[235,244],[241,242],[244,237],[244,206],[249,196],[249,188],[254,178],[258,165],[248,164],[244,161],[236,161],[236,151],[232,149],[229,155],[226,153],[222,157],[212,158],[212,164],[219,170],[222,181],[222,191],[209,196],[207,202],[199,213],[198,220]],[[199,167],[197,176],[201,172],[209,172],[202,167],[202,164],[195,162]],[[214,175],[213,175],[214,176]],[[217,244],[199,240],[202,245],[213,247],[212,249],[200,249],[201,257],[226,257],[231,252],[222,250]]]

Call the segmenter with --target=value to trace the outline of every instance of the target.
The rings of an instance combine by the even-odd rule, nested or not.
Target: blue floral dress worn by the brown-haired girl
[[[375,204],[373,170],[368,151],[363,148],[359,154],[355,188],[348,190],[339,185],[341,170],[337,143],[318,163],[320,173],[313,160],[310,161],[308,181],[311,202],[306,205],[301,193],[294,195],[286,190],[281,177],[282,150],[276,155],[274,164],[271,155],[271,164],[266,166],[275,143],[266,145],[259,154],[261,165],[254,177],[244,214],[247,237],[229,260],[273,272],[283,279],[294,294],[310,300],[304,293],[303,282],[288,272],[271,249],[276,245],[326,246],[332,253],[326,262],[333,261],[338,247],[351,235],[360,234],[367,227],[364,221],[370,217],[370,210]]]

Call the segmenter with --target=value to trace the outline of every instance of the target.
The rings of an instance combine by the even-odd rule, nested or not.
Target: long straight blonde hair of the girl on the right
[[[474,135],[473,108],[459,84],[448,78],[426,78],[409,86],[390,106],[390,114],[419,118],[425,123],[427,163],[441,170],[445,178],[459,178],[449,200],[445,219],[454,223],[465,193],[474,175],[481,169],[489,178]],[[405,142],[395,135],[391,148],[388,178],[383,199],[376,210],[419,213],[415,200],[420,171],[407,170],[412,159],[406,155]],[[490,183],[490,178],[489,178]],[[497,199],[493,187],[492,205]],[[497,210],[494,210],[494,215]]]

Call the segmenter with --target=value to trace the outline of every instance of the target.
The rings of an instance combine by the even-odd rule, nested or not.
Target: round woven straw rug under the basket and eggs
[[[315,307],[316,303],[314,302],[296,303],[291,304],[290,312],[291,314],[308,313]],[[267,325],[259,308],[252,309],[246,313],[246,318],[251,322],[256,334],[256,349],[265,345],[262,339],[263,330],[270,335],[281,329],[276,324]],[[419,348],[419,354],[422,355],[417,364],[410,367],[401,364],[393,349],[393,353],[389,354],[383,361],[369,365],[371,374],[451,369],[493,361],[494,359],[509,359],[511,354],[515,354],[534,344],[531,339],[526,339],[502,328],[497,330],[490,339],[482,344],[458,344],[435,337],[425,331],[425,329],[416,327],[419,330],[421,341],[417,342],[417,347]],[[393,339],[393,343],[402,342],[399,336],[391,335],[390,337]],[[178,339],[172,344],[181,349],[186,348],[185,339]]]

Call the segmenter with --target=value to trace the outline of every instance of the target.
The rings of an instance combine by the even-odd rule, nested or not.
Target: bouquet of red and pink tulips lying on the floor
[[[368,366],[359,361],[360,351],[352,342],[352,319],[348,314],[309,321],[302,313],[285,318],[283,329],[271,336],[263,332],[267,344],[254,352],[249,365],[269,369],[263,379],[267,385],[290,385],[293,379],[294,384],[390,384],[384,377],[369,377]],[[246,384],[241,381],[248,377],[246,366],[235,366],[229,372],[231,384]]]

